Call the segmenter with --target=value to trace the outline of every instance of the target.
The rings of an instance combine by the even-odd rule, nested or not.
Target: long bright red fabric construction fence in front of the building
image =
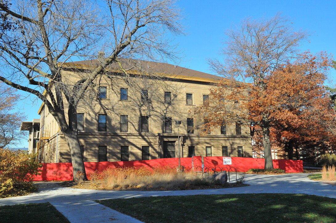
[[[194,162],[193,162],[194,159]],[[193,158],[180,158],[181,166],[192,168],[202,167],[202,157],[196,156]],[[231,157],[232,164],[224,165],[223,157],[204,157],[204,167],[211,170],[219,167],[220,169],[226,167],[235,167],[238,172],[246,172],[251,168],[264,168],[264,159]],[[155,166],[178,166],[178,158],[165,158],[154,160],[140,160],[140,161],[119,161],[119,162],[84,162],[87,176],[95,170],[102,171],[106,168],[115,167],[155,167]],[[298,160],[273,160],[274,168],[280,168],[287,173],[303,172],[302,161]],[[226,169],[225,168],[225,169]],[[218,168],[217,168],[218,169]],[[216,170],[217,170],[216,169]],[[71,163],[44,163],[41,169],[41,175],[35,178],[35,181],[40,180],[72,180],[73,169]]]

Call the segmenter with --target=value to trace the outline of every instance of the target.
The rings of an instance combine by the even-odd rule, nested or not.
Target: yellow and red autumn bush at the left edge
[[[34,192],[34,176],[42,164],[35,162],[36,154],[0,148],[0,197]]]

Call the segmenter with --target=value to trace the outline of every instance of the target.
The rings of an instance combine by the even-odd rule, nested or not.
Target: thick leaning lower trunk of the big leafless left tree
[[[72,167],[74,172],[73,180],[87,180],[83,162],[84,157],[79,144],[78,135],[75,133],[75,131],[70,129],[63,131],[62,133],[64,134],[70,148]]]

